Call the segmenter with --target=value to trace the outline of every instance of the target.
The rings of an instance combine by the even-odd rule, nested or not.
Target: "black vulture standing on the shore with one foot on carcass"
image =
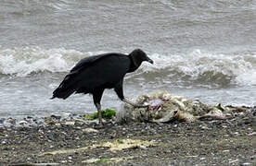
[[[72,93],[90,93],[98,112],[99,125],[102,125],[100,101],[104,89],[114,89],[118,97],[134,107],[143,107],[128,101],[123,96],[122,82],[126,73],[134,72],[143,61],[153,64],[147,54],[135,49],[126,55],[104,53],[83,58],[53,92],[54,98],[67,99]]]

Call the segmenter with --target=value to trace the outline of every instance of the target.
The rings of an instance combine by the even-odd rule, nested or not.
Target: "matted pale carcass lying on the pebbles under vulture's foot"
[[[173,120],[192,123],[197,120],[223,120],[231,118],[236,107],[211,106],[200,101],[186,100],[168,92],[142,95],[136,104],[148,105],[147,108],[134,108],[124,105],[124,119],[141,122],[165,123]]]

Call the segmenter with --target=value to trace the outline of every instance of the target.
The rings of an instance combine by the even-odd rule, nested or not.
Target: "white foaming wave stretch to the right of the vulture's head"
[[[156,62],[144,71],[168,70],[170,77],[186,77],[205,82],[226,82],[256,85],[256,54],[202,53],[194,50],[186,54],[151,55]],[[225,80],[224,80],[225,79]]]

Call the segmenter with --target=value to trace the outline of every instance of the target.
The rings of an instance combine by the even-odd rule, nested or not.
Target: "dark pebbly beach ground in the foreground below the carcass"
[[[27,121],[23,125],[0,124],[0,165],[256,164],[255,107],[232,119],[191,124],[107,122],[98,128],[95,123],[70,119],[53,115],[37,125],[28,125]],[[92,148],[127,138],[153,142],[154,146],[118,151]],[[56,150],[66,151],[50,153]]]

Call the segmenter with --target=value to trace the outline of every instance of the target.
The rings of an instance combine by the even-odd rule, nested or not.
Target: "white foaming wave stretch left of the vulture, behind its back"
[[[26,77],[44,71],[68,72],[77,61],[92,54],[94,53],[81,53],[64,48],[44,50],[39,47],[14,49],[0,47],[0,73]]]

